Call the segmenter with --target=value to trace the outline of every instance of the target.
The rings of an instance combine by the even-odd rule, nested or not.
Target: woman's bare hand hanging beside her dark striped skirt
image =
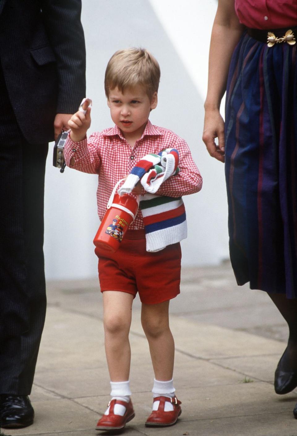
[[[224,120],[219,113],[219,109],[206,109],[204,117],[204,129],[202,140],[206,145],[210,156],[225,162],[225,137],[224,137]],[[215,142],[218,138],[219,144]]]

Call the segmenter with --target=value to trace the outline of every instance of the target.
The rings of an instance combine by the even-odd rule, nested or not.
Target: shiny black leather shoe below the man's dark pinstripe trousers
[[[0,427],[17,429],[33,424],[34,409],[27,395],[0,395]]]

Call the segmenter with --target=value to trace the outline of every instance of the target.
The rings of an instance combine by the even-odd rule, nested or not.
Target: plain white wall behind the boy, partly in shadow
[[[141,46],[159,61],[159,105],[150,119],[186,139],[203,177],[202,191],[184,199],[188,238],[182,242],[182,262],[187,266],[216,264],[228,257],[223,165],[209,157],[201,140],[215,11],[216,0],[83,0],[87,96],[93,100],[90,131],[112,126],[103,87],[111,55],[120,48]],[[60,174],[51,164],[52,146],[45,194],[46,276],[95,276],[97,177],[69,168]]]

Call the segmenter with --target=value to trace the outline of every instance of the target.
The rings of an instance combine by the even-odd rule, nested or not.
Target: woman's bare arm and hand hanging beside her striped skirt
[[[219,113],[221,100],[226,91],[229,65],[233,50],[244,26],[240,24],[234,9],[234,0],[219,0],[209,48],[209,73],[205,119],[202,140],[209,154],[224,162],[224,121]],[[218,137],[219,146],[215,138]]]

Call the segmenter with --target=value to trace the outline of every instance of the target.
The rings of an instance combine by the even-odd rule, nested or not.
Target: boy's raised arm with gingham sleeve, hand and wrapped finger
[[[98,174],[100,167],[99,137],[93,133],[87,141],[86,133],[91,125],[91,108],[88,99],[81,106],[86,114],[78,111],[71,116],[68,125],[71,132],[64,146],[66,165],[84,173]]]

